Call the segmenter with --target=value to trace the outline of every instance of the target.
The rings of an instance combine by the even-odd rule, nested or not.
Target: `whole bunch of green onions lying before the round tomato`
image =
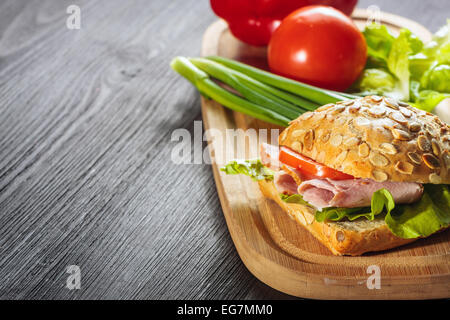
[[[302,113],[321,105],[356,98],[222,57],[176,57],[171,67],[205,97],[232,110],[284,127]]]

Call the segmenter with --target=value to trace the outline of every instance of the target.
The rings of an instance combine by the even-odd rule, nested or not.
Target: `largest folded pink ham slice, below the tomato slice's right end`
[[[376,182],[370,179],[312,179],[298,187],[303,199],[321,210],[326,207],[355,208],[370,206],[372,195],[382,188],[394,197],[395,203],[412,203],[420,199],[423,186],[414,182]]]

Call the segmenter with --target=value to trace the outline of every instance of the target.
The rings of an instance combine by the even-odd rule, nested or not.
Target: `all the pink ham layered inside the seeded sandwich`
[[[327,207],[355,208],[370,206],[375,191],[385,188],[395,203],[412,203],[423,194],[423,186],[414,182],[376,182],[370,179],[316,179],[298,169],[281,164],[278,147],[262,144],[262,163],[276,171],[274,182],[279,193],[299,193],[317,209]]]

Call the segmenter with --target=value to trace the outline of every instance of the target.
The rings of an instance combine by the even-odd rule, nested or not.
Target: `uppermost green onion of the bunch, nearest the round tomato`
[[[321,105],[327,103],[335,103],[341,100],[348,100],[348,98],[341,93],[335,93],[330,90],[320,89],[289,78],[281,77],[255,67],[251,67],[244,63],[237,62],[235,60],[216,56],[207,57],[207,59],[221,63],[231,69],[242,72],[249,77],[252,77],[265,84],[291,92],[295,95],[301,96],[305,99],[309,99]]]

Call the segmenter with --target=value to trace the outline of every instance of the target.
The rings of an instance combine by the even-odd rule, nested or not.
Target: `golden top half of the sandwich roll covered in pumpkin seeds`
[[[357,178],[450,184],[449,126],[390,98],[307,112],[281,133],[279,144]]]

